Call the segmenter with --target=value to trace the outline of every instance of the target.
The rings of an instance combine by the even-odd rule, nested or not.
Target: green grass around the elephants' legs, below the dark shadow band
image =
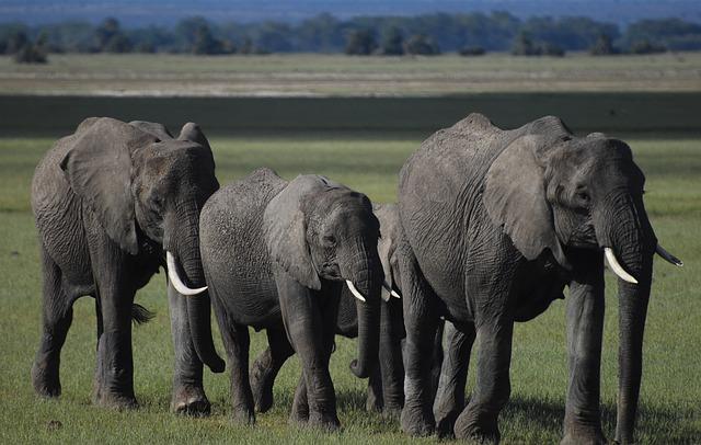
[[[701,141],[636,139],[634,135],[628,140],[647,175],[645,201],[657,236],[686,263],[683,269],[656,263],[637,432],[644,443],[699,443]],[[332,377],[344,425],[341,433],[324,434],[287,425],[299,373],[297,360],[290,360],[277,380],[274,410],[260,414],[254,427],[234,425],[229,419],[228,373],[206,373],[206,389],[214,404],[210,418],[185,419],[170,414],[173,352],[162,276],[154,278],[137,297],[157,312],[151,323],[134,331],[139,410],[116,412],[90,404],[95,320],[92,300],[88,298],[76,304],[73,326],[64,347],[64,395],[56,401],[35,397],[30,368],[39,333],[41,274],[28,205],[30,182],[34,166],[51,142],[48,138],[0,138],[0,400],[4,411],[0,417],[0,443],[410,442],[399,432],[397,422],[365,412],[366,383],[353,377],[347,369],[355,343],[344,339],[338,340],[332,358]],[[377,202],[394,201],[397,172],[418,144],[415,135],[348,133],[211,138],[221,183],[267,166],[286,178],[303,172],[327,174],[366,192]],[[601,399],[605,433],[612,438],[618,349],[614,286],[607,290],[605,330]],[[253,334],[252,357],[264,346],[264,340],[262,333]],[[216,341],[219,351],[223,351],[218,333]],[[540,318],[516,328],[512,399],[501,418],[504,443],[559,441],[566,378],[564,303],[555,301]],[[472,385],[470,379],[469,386]],[[53,420],[59,421],[62,427],[49,427]]]

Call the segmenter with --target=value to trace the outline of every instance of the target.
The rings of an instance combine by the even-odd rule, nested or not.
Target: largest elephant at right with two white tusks
[[[568,285],[562,442],[604,443],[606,256],[620,277],[616,438],[633,440],[653,254],[678,262],[657,244],[643,206],[644,180],[624,142],[601,134],[574,137],[556,117],[502,130],[471,114],[423,142],[404,164],[399,186],[405,432],[435,427],[425,389],[429,361],[423,357],[443,316],[461,333],[450,335],[449,351],[463,357],[463,366],[480,339],[476,386],[455,435],[498,442],[497,417],[510,391],[513,324],[544,311]],[[439,398],[464,386],[464,379],[452,380],[441,383]]]

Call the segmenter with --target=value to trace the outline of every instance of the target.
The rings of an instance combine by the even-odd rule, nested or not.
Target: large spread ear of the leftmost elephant
[[[131,125],[103,117],[78,135],[60,162],[73,192],[96,215],[107,236],[131,254],[138,252],[131,152],[154,140]]]

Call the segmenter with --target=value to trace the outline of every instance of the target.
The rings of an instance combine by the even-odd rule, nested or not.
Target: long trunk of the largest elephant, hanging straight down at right
[[[642,196],[617,197],[617,218],[609,226],[608,244],[625,272],[637,283],[619,277],[619,387],[617,443],[632,443],[643,369],[643,332],[657,240]],[[622,205],[621,205],[622,204]]]

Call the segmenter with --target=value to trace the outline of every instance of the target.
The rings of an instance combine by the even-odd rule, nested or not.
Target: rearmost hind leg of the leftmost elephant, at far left
[[[42,338],[32,366],[32,384],[37,395],[58,397],[60,353],[73,319],[73,308],[61,285],[61,272],[42,248],[44,285]]]

